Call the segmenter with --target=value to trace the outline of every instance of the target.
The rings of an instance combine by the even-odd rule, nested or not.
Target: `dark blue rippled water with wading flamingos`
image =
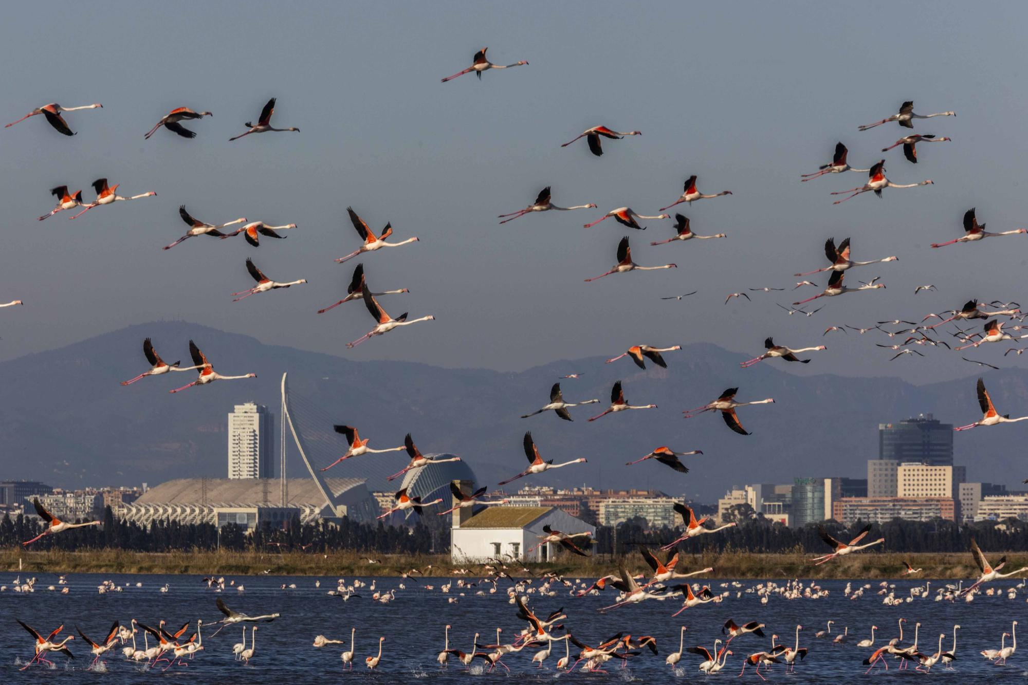
[[[951,683],[966,682],[1024,682],[1028,678],[1028,647],[1026,653],[1019,650],[1005,666],[993,665],[986,661],[979,651],[982,649],[998,649],[1000,635],[1011,629],[1011,622],[1028,615],[1025,611],[1025,598],[1028,591],[1018,590],[1015,600],[1006,599],[1006,593],[996,593],[993,597],[980,594],[967,604],[935,602],[934,589],[927,599],[915,599],[912,603],[900,607],[882,604],[882,598],[877,594],[878,581],[864,596],[850,601],[843,596],[845,581],[823,581],[821,587],[831,590],[829,597],[818,600],[784,600],[773,594],[768,604],[762,605],[756,592],[746,592],[757,581],[741,581],[740,587],[731,583],[721,587],[722,581],[713,583],[715,591],[730,590],[731,596],[720,604],[707,604],[688,609],[677,618],[671,613],[681,604],[675,601],[647,601],[639,605],[628,606],[608,614],[597,613],[599,607],[613,604],[615,592],[608,589],[598,597],[582,599],[568,596],[568,589],[556,585],[556,597],[540,597],[538,593],[527,594],[529,605],[536,613],[545,615],[551,611],[563,608],[567,613],[564,621],[567,628],[586,644],[595,644],[601,639],[619,630],[632,635],[652,635],[657,639],[660,651],[654,656],[644,650],[644,654],[631,659],[627,668],[621,669],[618,663],[609,663],[608,675],[585,674],[576,671],[563,674],[555,671],[556,660],[564,655],[563,643],[554,643],[553,653],[546,661],[546,666],[537,669],[531,662],[531,655],[541,648],[525,649],[516,654],[510,654],[504,661],[510,668],[510,673],[498,668],[493,673],[483,673],[481,661],[476,661],[473,670],[468,673],[456,663],[448,669],[440,669],[435,661],[436,654],[443,646],[443,628],[449,623],[450,646],[468,651],[471,648],[475,632],[482,634],[481,642],[491,642],[495,637],[495,628],[504,628],[504,642],[510,642],[522,627],[517,619],[516,607],[509,604],[507,596],[508,583],[501,581],[495,593],[488,593],[490,585],[485,585],[486,594],[476,597],[478,587],[458,589],[451,578],[434,578],[423,581],[434,584],[434,590],[423,589],[411,581],[401,581],[393,578],[375,579],[378,589],[397,588],[400,582],[407,585],[406,589],[397,589],[396,600],[382,605],[370,600],[372,590],[363,587],[359,591],[361,599],[351,599],[343,602],[329,597],[326,592],[335,587],[335,578],[273,576],[238,577],[236,583],[243,583],[246,590],[236,591],[227,587],[224,592],[216,593],[199,581],[197,576],[132,576],[132,575],[76,575],[68,577],[69,594],[47,591],[50,583],[57,585],[57,578],[39,576],[36,591],[33,593],[15,593],[10,590],[11,581],[17,574],[3,574],[0,584],[8,585],[6,591],[0,592],[0,683],[21,682],[52,682],[52,681],[88,681],[104,683],[294,683],[340,682],[343,680],[359,680],[378,683],[412,682],[420,679],[431,679],[432,682],[451,683],[468,682],[510,682],[517,678],[526,682],[548,682],[555,679],[572,679],[581,682],[695,682],[705,679],[696,666],[700,659],[692,654],[684,654],[674,672],[664,662],[665,655],[678,648],[678,628],[687,625],[686,646],[703,645],[712,648],[715,638],[721,637],[721,625],[728,618],[733,618],[741,624],[749,620],[760,620],[767,624],[764,628],[767,638],[743,636],[733,641],[731,648],[734,655],[729,657],[725,669],[711,679],[725,682],[740,682],[736,676],[742,666],[745,654],[768,649],[772,633],[781,636],[779,642],[794,644],[795,628],[798,623],[804,626],[800,634],[801,646],[808,647],[810,653],[805,661],[797,665],[796,674],[784,672],[784,666],[775,665],[767,674],[769,682],[825,683],[851,682],[857,679],[887,678],[900,679],[904,682],[916,682],[922,679],[922,674],[913,670],[897,671],[897,663],[889,659],[888,673],[864,676],[865,666],[860,661],[872,651],[856,647],[856,642],[870,637],[872,624],[880,626],[877,645],[897,637],[896,621],[906,617],[905,637],[908,643],[913,637],[916,621],[921,622],[919,645],[923,652],[934,652],[939,643],[939,635],[946,634],[944,648],[949,649],[952,642],[954,623],[961,628],[957,634],[958,661],[953,671],[944,669],[941,664],[931,670],[932,679],[942,679]],[[23,581],[27,578],[22,574]],[[99,594],[97,585],[103,579],[110,579],[122,586],[121,592]],[[226,582],[230,578],[226,577]],[[315,581],[321,580],[321,587],[315,587]],[[352,582],[352,578],[347,578]],[[371,579],[367,579],[370,583]],[[142,582],[142,587],[136,587]],[[164,583],[170,584],[167,593],[159,591]],[[453,582],[449,593],[443,593],[440,585]],[[538,582],[538,581],[537,581]],[[923,585],[924,581],[897,580],[895,582],[896,597],[908,597],[909,588]],[[125,586],[128,583],[130,586]],[[295,583],[296,589],[281,589],[283,583]],[[854,582],[854,587],[859,583]],[[932,582],[932,585],[937,583]],[[1013,587],[1015,582],[996,583],[994,587]],[[58,588],[60,589],[60,585]],[[741,591],[741,597],[736,592]],[[464,596],[461,596],[464,592]],[[120,645],[108,652],[106,672],[86,672],[85,668],[91,660],[91,655],[85,643],[76,636],[71,643],[74,660],[67,659],[62,654],[51,656],[56,668],[33,665],[25,672],[20,672],[22,663],[32,656],[32,638],[22,629],[15,618],[21,618],[44,635],[64,623],[63,635],[74,634],[75,626],[94,640],[102,640],[103,633],[115,619],[128,624],[132,618],[147,623],[156,624],[161,618],[169,625],[180,626],[186,620],[197,618],[214,621],[220,618],[215,607],[215,599],[221,597],[225,603],[237,611],[257,615],[279,612],[282,617],[271,623],[260,623],[257,630],[256,656],[250,664],[234,660],[232,645],[240,641],[243,633],[241,626],[229,626],[218,636],[213,637],[215,627],[205,627],[204,647],[188,666],[173,666],[167,672],[159,669],[147,670],[145,666],[125,660],[120,652]],[[456,598],[455,604],[450,604],[447,598]],[[833,632],[849,627],[849,643],[845,646],[834,646],[827,640],[813,637],[817,630],[824,628],[824,623],[833,619]],[[357,658],[353,673],[344,672],[340,652],[350,648],[350,629],[357,628]],[[1028,622],[1025,625],[1028,628]],[[908,632],[909,628],[909,633]],[[247,634],[249,636],[249,630]],[[330,645],[321,649],[311,647],[316,635],[338,640],[345,640],[346,645]],[[378,670],[369,673],[364,665],[364,657],[377,652],[378,637],[384,636],[382,660]],[[142,630],[137,635],[142,648]],[[249,647],[249,637],[247,639]],[[1009,640],[1007,640],[1009,645]],[[573,650],[574,650],[573,646]],[[742,681],[761,683],[751,669],[746,670]],[[570,681],[568,681],[570,682]]]

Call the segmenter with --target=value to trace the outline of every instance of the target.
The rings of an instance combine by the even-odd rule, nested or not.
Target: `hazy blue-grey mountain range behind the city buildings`
[[[255,371],[258,377],[177,395],[168,390],[191,381],[192,372],[120,386],[119,381],[147,367],[141,345],[148,335],[166,361],[182,359],[188,365],[192,338],[220,372]],[[408,335],[416,345],[416,331]],[[233,404],[250,400],[278,412],[283,371],[289,372],[294,392],[333,421],[358,426],[373,446],[400,444],[409,431],[423,452],[461,455],[490,486],[525,467],[521,436],[531,430],[544,459],[584,456],[589,463],[520,482],[650,486],[706,502],[733,483],[862,477],[865,461],[877,455],[880,422],[922,411],[951,423],[980,418],[975,375],[918,387],[892,377],[828,372],[797,376],[781,370],[780,360],[742,370],[741,355],[706,344],[665,358],[670,368],[646,371],[627,359],[603,364],[601,358],[554,361],[519,373],[452,370],[406,362],[353,362],[191,323],[141,324],[0,363],[0,388],[6,397],[0,413],[0,477],[75,486],[224,476],[225,414]],[[813,359],[810,365],[816,367],[819,360],[816,355]],[[583,376],[561,382],[566,400],[595,397],[601,400],[598,405],[573,409],[574,423],[552,412],[518,418],[545,404],[550,386],[570,372]],[[1004,369],[985,377],[1001,411],[1028,413],[1028,372]],[[587,423],[605,407],[617,378],[624,381],[629,402],[656,403],[659,408]],[[712,414],[681,419],[683,408],[702,404],[732,386],[740,388],[742,401],[776,400],[740,410],[752,436],[732,433]],[[1020,482],[1028,477],[1022,458],[1026,436],[1028,423],[957,435],[957,462],[967,465],[971,479]],[[688,459],[688,475],[655,463],[624,466],[662,444],[676,450],[700,448],[704,456]],[[361,459],[389,459],[397,470],[403,465],[402,455]],[[305,473],[299,459],[292,459],[289,474]]]

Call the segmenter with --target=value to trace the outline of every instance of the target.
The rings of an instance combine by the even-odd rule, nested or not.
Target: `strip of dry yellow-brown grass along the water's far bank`
[[[1002,552],[990,552],[990,558],[998,558]],[[744,551],[706,551],[695,554],[683,551],[677,570],[697,571],[711,567],[709,574],[692,578],[690,582],[704,583],[706,580],[725,579],[846,579],[884,580],[896,579],[906,569],[905,562],[921,573],[910,576],[910,580],[946,579],[971,580],[980,575],[969,553],[913,553],[857,552],[844,558],[833,560],[821,566],[807,561],[814,554],[801,550],[783,553],[757,553]],[[379,564],[369,564],[365,557],[379,560]],[[19,568],[19,562],[22,568]],[[368,554],[352,551],[323,553],[303,552],[255,552],[255,551],[171,551],[136,552],[121,549],[98,549],[90,551],[27,551],[23,549],[0,549],[0,570],[7,573],[30,575],[77,574],[77,573],[132,573],[132,574],[182,574],[222,576],[321,576],[321,577],[399,577],[411,569],[425,569],[428,576],[476,577],[486,575],[477,564],[453,564],[448,555],[442,554]],[[632,573],[650,573],[639,554],[616,557],[599,554],[588,558],[558,558],[549,564],[527,564],[507,562],[505,572],[514,577],[528,577],[522,569],[542,575],[553,572],[570,578],[596,578],[617,573],[619,566]],[[1028,566],[1028,553],[1007,552],[1005,569]],[[466,576],[456,576],[453,569],[467,569]],[[1014,576],[1018,578],[1022,576]]]

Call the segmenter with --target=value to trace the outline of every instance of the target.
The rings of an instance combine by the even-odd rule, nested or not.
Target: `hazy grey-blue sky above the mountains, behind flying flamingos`
[[[41,116],[0,130],[0,301],[26,301],[0,311],[0,359],[182,319],[355,360],[448,367],[524,369],[638,342],[756,354],[773,335],[829,346],[796,372],[967,375],[975,367],[960,355],[889,363],[873,345],[891,342],[884,336],[821,332],[1024,296],[1028,236],[928,245],[960,236],[970,207],[991,230],[1025,225],[1026,14],[957,2],[14,5],[0,26],[0,56],[16,65],[0,119],[54,101],[104,108],[68,114],[73,138]],[[440,83],[482,46],[498,64],[529,65]],[[301,132],[229,142],[272,96],[272,123]],[[907,130],[856,130],[911,99],[920,113],[957,112],[916,122],[953,138],[920,146],[916,166],[898,148],[879,152]],[[188,123],[193,140],[166,130],[143,139],[179,106],[214,116]],[[596,124],[644,135],[605,142],[602,157],[585,141],[560,147]],[[831,191],[866,175],[799,177],[829,161],[838,140],[856,167],[884,157],[892,181],[934,185],[833,206]],[[684,210],[696,232],[727,239],[650,247],[673,235],[665,220],[644,221],[645,231],[613,220],[583,228],[625,205],[657,214],[691,174],[704,192],[733,191]],[[36,220],[53,206],[50,187],[90,200],[99,177],[121,194],[157,196]],[[599,209],[498,225],[546,185],[555,204]],[[258,249],[200,237],[162,251],[186,227],[179,205],[212,223],[246,216],[298,228]],[[392,240],[420,241],[338,265],[360,244],[347,206],[373,228],[392,222]],[[637,263],[678,267],[584,283],[615,263],[625,235]],[[887,289],[822,300],[809,318],[774,303],[814,288],[724,304],[746,288],[792,288],[794,273],[822,265],[830,237],[851,237],[854,259],[898,256],[850,273],[880,276]],[[309,283],[232,302],[251,285],[248,256],[274,280]],[[410,289],[383,298],[387,311],[436,320],[346,350],[373,325],[364,308],[316,312],[344,294],[358,261],[373,290]],[[938,292],[914,295],[929,283]],[[1025,363],[1003,358],[1007,347],[974,357]]]

